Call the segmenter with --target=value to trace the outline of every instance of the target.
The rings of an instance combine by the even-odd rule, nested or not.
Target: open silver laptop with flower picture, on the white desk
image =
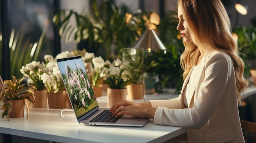
[[[109,117],[104,117],[110,113],[110,109],[99,108],[82,57],[66,57],[56,59],[56,61],[79,123],[143,127],[148,122],[148,118],[138,118],[130,115],[115,118],[110,114]]]

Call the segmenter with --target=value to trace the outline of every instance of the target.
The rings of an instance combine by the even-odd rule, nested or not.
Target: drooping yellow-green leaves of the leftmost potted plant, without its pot
[[[21,82],[25,78],[26,77],[16,79],[16,77],[13,76],[13,80],[4,81],[4,84],[6,84],[7,87],[1,92],[0,101],[3,103],[1,110],[4,110],[4,112],[2,112],[2,118],[6,116],[8,121],[9,121],[9,113],[12,111],[12,106],[13,106],[11,101],[23,99],[25,101],[27,114],[29,110],[28,102],[34,103],[33,101],[33,99],[35,99],[34,90],[37,90],[37,89],[35,86],[32,86],[32,85],[21,84]]]

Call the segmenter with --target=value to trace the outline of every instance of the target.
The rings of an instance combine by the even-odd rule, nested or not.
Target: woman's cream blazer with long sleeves
[[[191,69],[191,71],[193,68]],[[157,108],[154,121],[159,125],[184,127],[189,143],[245,143],[240,125],[236,78],[231,58],[221,51],[207,51],[196,68],[198,76],[184,80],[179,97],[150,101]],[[188,107],[183,102],[184,88]]]

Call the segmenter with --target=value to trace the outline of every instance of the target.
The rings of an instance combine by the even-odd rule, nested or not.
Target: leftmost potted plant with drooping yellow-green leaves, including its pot
[[[4,84],[7,86],[1,92],[0,101],[3,103],[1,110],[4,110],[2,112],[2,118],[6,116],[8,121],[9,118],[24,117],[25,105],[28,117],[28,103],[34,103],[34,90],[37,89],[35,86],[22,84],[21,82],[25,78],[16,79],[13,76],[13,81],[4,81]]]

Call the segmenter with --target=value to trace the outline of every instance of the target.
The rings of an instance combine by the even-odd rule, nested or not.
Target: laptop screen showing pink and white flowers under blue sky
[[[77,119],[98,106],[81,56],[56,59]]]

